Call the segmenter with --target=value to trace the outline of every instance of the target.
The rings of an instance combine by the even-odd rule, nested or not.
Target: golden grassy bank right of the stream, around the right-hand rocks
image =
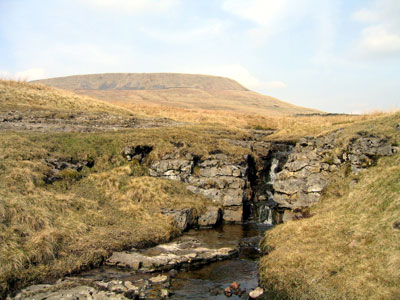
[[[398,123],[399,113],[343,134],[369,129],[398,144]],[[277,299],[400,299],[399,153],[359,177],[343,168],[311,214],[262,242],[260,279]]]

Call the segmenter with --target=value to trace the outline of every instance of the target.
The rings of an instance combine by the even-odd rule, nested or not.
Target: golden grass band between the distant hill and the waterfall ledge
[[[320,136],[333,130],[358,128],[367,121],[379,120],[395,112],[373,112],[363,115],[313,115],[313,116],[265,116],[262,114],[184,109],[157,104],[131,104],[112,102],[134,111],[139,116],[169,118],[192,124],[222,126],[231,130],[274,130],[268,140],[297,140],[303,136]]]

